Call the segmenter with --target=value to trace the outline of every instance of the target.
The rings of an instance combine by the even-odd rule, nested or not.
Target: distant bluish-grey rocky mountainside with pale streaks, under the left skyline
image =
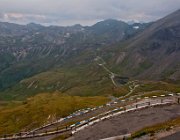
[[[0,89],[63,65],[84,50],[95,51],[125,40],[140,30],[117,20],[102,21],[91,27],[0,23]]]

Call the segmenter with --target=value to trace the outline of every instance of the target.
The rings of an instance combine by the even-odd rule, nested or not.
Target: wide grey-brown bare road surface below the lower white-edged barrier
[[[180,116],[180,105],[143,109],[99,122],[74,135],[73,140],[99,140],[128,134]]]

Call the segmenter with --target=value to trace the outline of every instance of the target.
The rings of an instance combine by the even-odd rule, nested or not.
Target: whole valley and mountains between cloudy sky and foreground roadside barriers
[[[0,22],[0,133],[32,130],[129,92],[180,92],[179,19],[180,10],[151,23]],[[138,87],[129,91],[131,81]]]

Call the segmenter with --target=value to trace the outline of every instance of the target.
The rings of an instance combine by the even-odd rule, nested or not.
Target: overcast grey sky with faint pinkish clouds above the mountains
[[[154,21],[180,8],[180,0],[0,0],[0,21],[91,25],[104,19]]]

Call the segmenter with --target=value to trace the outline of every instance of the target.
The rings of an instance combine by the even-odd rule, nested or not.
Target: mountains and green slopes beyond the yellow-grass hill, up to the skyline
[[[116,78],[179,83],[178,19],[180,10],[132,25],[113,19],[68,27],[1,22],[1,98],[54,91],[81,96],[126,92],[121,85],[114,87],[102,61]]]

